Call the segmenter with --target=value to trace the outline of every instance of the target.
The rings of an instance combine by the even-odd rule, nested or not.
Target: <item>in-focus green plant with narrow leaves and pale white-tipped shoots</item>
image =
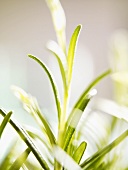
[[[82,128],[83,126],[86,126],[86,122],[84,122],[86,120],[84,118],[84,115],[86,114],[85,109],[87,109],[88,103],[91,101],[92,97],[97,93],[97,91],[93,88],[97,83],[99,83],[99,81],[109,75],[111,70],[105,71],[94,79],[84,89],[83,93],[68,113],[73,63],[77,48],[77,41],[82,27],[81,25],[78,25],[75,28],[71,36],[68,51],[66,51],[66,20],[62,6],[59,0],[47,0],[47,4],[52,14],[58,39],[58,44],[54,41],[50,41],[47,44],[47,48],[57,59],[60,68],[60,74],[63,82],[62,101],[60,100],[59,90],[50,69],[43,61],[34,55],[29,54],[28,56],[41,66],[51,83],[57,113],[56,115],[53,115],[57,116],[57,134],[54,134],[54,130],[52,129],[50,122],[46,119],[45,114],[40,109],[37,100],[21,88],[13,86],[12,89],[15,95],[23,104],[23,108],[26,112],[28,112],[35,119],[39,129],[20,125],[14,119],[10,118],[12,112],[6,113],[4,110],[0,109],[0,114],[4,117],[0,126],[0,136],[9,122],[20,136],[20,142],[24,143],[26,146],[25,150],[22,150],[20,154],[17,153],[17,156],[13,155],[13,150],[16,149],[16,147],[13,146],[8,152],[8,155],[5,156],[5,159],[0,165],[0,169],[108,169],[113,166],[114,161],[111,160],[109,163],[106,162],[106,154],[108,154],[128,136],[128,131],[126,130],[108,145],[102,145],[104,147],[100,147],[96,153],[93,153],[90,157],[85,158],[84,155],[90,143],[88,143],[86,138],[84,138]],[[84,123],[81,120],[83,120]],[[113,124],[114,123],[112,123],[112,125]],[[95,127],[91,126],[91,128],[94,129]],[[107,138],[108,136],[106,136],[105,140],[107,140]],[[91,140],[95,142],[93,139],[92,130]],[[32,155],[33,157],[31,160],[29,159],[29,156],[31,157]],[[13,159],[11,159],[12,157]],[[35,163],[35,160],[37,163]]]

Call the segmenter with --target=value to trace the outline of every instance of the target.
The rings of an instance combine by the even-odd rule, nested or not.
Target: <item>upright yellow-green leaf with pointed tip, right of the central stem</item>
[[[73,70],[73,62],[74,62],[74,56],[75,56],[75,50],[77,46],[77,40],[78,36],[80,34],[81,30],[81,25],[78,25],[71,37],[70,44],[69,44],[69,49],[68,49],[68,56],[67,56],[67,61],[68,61],[68,86],[70,85],[71,77],[72,77],[72,70]]]

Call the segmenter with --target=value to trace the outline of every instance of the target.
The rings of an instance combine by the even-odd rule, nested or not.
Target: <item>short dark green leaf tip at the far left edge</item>
[[[0,138],[1,138],[1,136],[2,136],[2,133],[3,133],[3,131],[4,131],[5,127],[6,127],[6,125],[7,125],[7,123],[8,123],[9,120],[10,120],[11,115],[12,115],[12,112],[9,112],[9,113],[4,117],[4,119],[3,119],[3,121],[2,121],[2,123],[1,123],[1,125],[0,125]]]

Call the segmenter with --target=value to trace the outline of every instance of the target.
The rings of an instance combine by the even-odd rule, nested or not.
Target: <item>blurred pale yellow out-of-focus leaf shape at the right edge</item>
[[[128,106],[128,31],[115,31],[109,46],[109,62],[113,70],[113,96],[114,100]]]

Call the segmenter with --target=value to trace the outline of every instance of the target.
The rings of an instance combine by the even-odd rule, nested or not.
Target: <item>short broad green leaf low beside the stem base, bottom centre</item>
[[[86,142],[82,142],[78,148],[76,149],[75,153],[73,154],[73,159],[79,164],[81,159],[82,159],[82,156],[86,150],[86,146],[87,146],[87,143]]]

